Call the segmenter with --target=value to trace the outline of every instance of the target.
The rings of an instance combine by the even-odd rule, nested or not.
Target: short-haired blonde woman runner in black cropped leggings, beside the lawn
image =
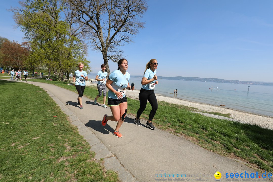
[[[86,71],[83,70],[84,64],[79,62],[79,70],[74,72],[73,82],[75,83],[76,89],[78,91],[78,104],[80,105],[80,109],[82,108],[82,96],[84,94],[85,89],[85,81],[88,80]]]

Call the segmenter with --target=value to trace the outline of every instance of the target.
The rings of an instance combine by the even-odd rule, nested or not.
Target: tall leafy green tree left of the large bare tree
[[[31,65],[46,64],[49,75],[54,68],[62,81],[64,73],[85,59],[78,38],[70,33],[69,23],[61,20],[63,7],[60,1],[26,0],[20,4],[21,8],[12,11],[17,25],[29,40]]]

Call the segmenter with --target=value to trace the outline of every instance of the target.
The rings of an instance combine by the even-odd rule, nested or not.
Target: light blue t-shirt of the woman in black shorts
[[[116,91],[118,91],[119,89],[121,91],[123,90],[126,92],[126,87],[130,82],[130,74],[126,71],[124,75],[121,73],[120,70],[115,70],[109,75],[108,79],[113,81],[111,85]],[[108,91],[108,97],[111,99],[118,99],[117,95],[111,90]],[[125,94],[123,95],[123,97],[125,97]]]

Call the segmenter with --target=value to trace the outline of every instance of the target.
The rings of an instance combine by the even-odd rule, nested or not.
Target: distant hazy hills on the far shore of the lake
[[[143,76],[132,76],[131,77],[140,77]],[[183,76],[158,76],[158,79],[164,80],[186,80],[186,81],[197,81],[197,82],[217,82],[217,83],[236,83],[236,84],[245,84],[245,85],[266,85],[273,86],[273,82],[253,82],[253,81],[239,81],[239,80],[224,80],[219,78],[199,78],[199,77],[183,77]]]

